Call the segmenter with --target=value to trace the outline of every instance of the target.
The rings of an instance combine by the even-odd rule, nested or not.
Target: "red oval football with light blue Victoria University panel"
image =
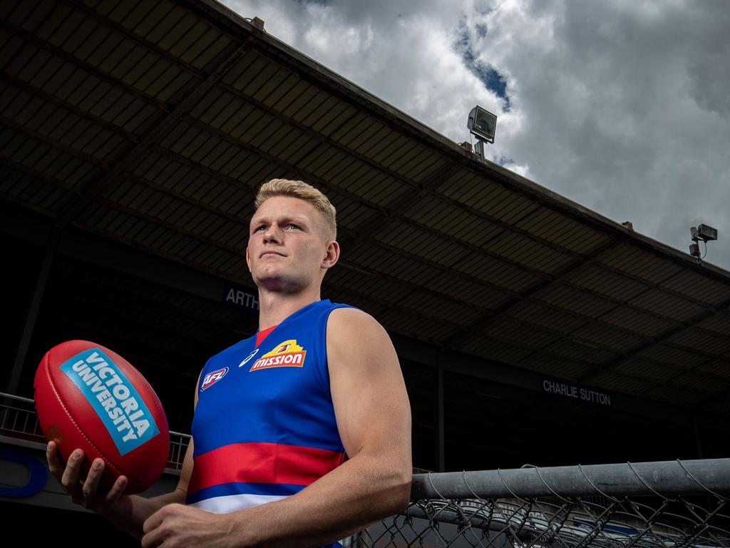
[[[46,352],[34,382],[38,420],[46,438],[69,460],[86,454],[82,473],[104,459],[101,486],[127,476],[126,493],[147,490],[164,471],[167,419],[155,391],[116,352],[88,340],[68,340]]]

